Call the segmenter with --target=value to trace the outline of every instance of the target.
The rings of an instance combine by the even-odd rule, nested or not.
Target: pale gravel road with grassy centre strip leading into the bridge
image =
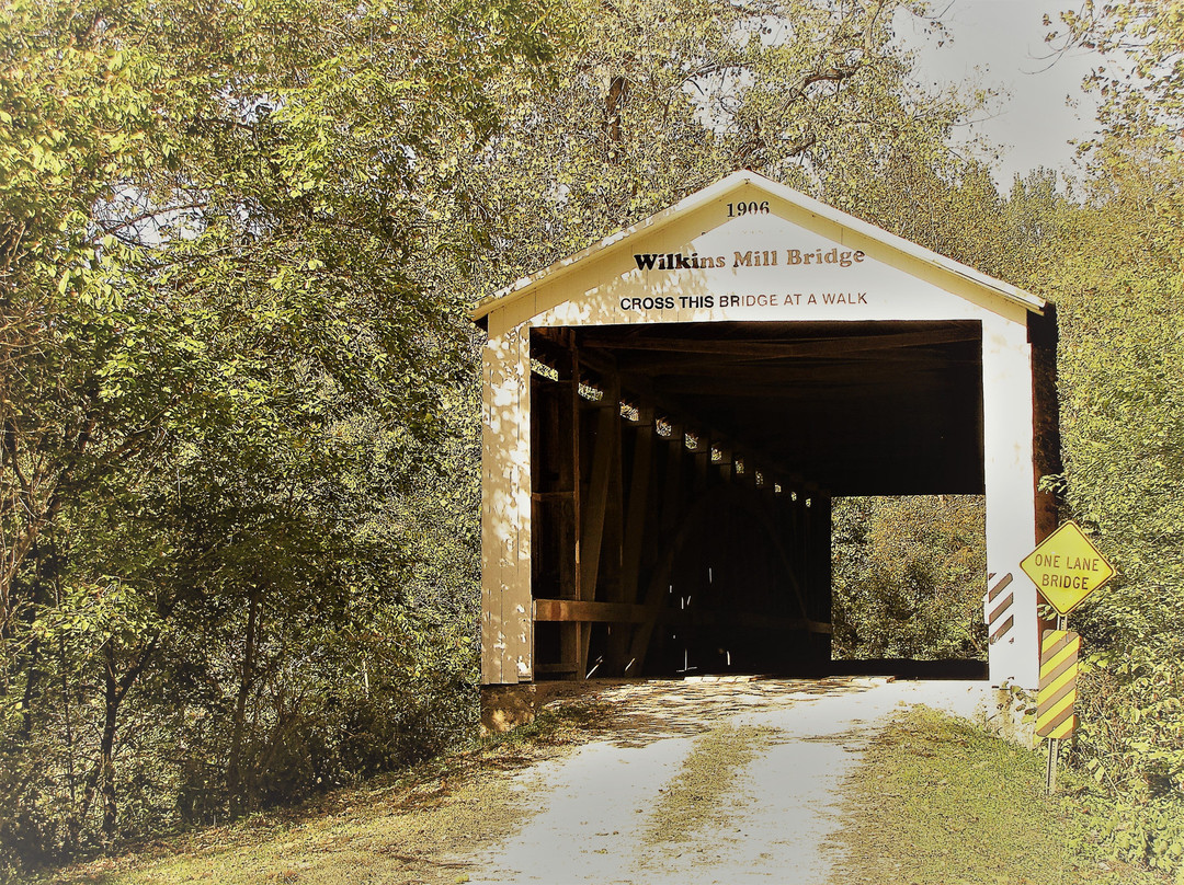
[[[983,697],[868,678],[614,686],[617,728],[515,774],[516,832],[456,860],[481,885],[832,885],[839,790],[870,738],[902,705],[973,718]]]

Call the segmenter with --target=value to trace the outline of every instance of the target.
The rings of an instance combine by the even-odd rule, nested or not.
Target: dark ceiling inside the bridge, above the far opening
[[[835,496],[983,492],[979,323],[696,323],[574,332],[623,388]]]

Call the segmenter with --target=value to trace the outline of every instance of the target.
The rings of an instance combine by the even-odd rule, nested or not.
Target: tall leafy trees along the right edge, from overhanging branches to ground
[[[1080,207],[1037,273],[1055,297],[1073,516],[1118,567],[1074,626],[1086,635],[1077,761],[1111,792],[1112,851],[1184,861],[1184,174],[1179,4],[1087,2],[1062,37],[1117,57],[1100,69],[1103,131],[1086,146]],[[1132,821],[1137,823],[1132,826]]]

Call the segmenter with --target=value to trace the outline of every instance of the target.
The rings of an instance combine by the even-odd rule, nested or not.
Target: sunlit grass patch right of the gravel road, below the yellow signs
[[[1067,774],[1044,795],[1047,756],[927,708],[879,734],[844,784],[835,838],[843,885],[1162,885],[1093,855]]]

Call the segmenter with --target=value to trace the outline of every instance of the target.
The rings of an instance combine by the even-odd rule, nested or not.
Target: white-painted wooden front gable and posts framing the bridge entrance
[[[728,217],[728,204],[768,213]],[[849,266],[790,264],[831,250]],[[736,253],[777,254],[738,266]],[[855,253],[863,254],[855,260]],[[722,258],[707,269],[639,270],[637,254]],[[844,296],[842,303],[837,295]],[[828,301],[828,296],[830,296]],[[635,299],[673,299],[671,306]],[[712,306],[706,301],[712,299]],[[721,306],[722,302],[722,306]],[[987,568],[1012,573],[1016,625],[991,647],[995,684],[1035,689],[1036,590],[1019,570],[1035,545],[1031,353],[1035,296],[893,237],[774,182],[740,173],[599,246],[483,302],[485,429],[482,453],[482,681],[533,678],[530,621],[532,327],[727,321],[978,321],[983,324]]]

